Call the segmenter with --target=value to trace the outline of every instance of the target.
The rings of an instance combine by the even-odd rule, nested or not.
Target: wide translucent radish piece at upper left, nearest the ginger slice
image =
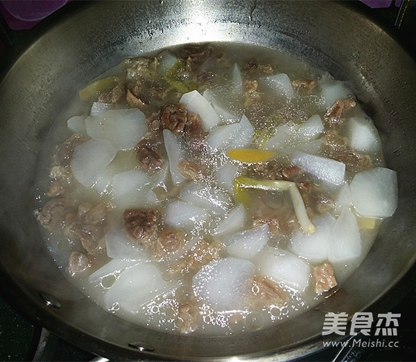
[[[85,126],[90,137],[108,139],[116,150],[135,147],[147,132],[146,116],[137,109],[108,110],[87,117]]]

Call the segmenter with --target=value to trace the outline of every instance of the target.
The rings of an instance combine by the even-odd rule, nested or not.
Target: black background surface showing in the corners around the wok
[[[43,12],[35,14],[27,8],[32,1],[26,1],[26,15],[36,20],[22,21],[13,19],[10,12],[7,12],[10,8],[9,1],[0,0],[0,67],[5,67],[4,64],[24,49],[42,28],[57,21],[65,12],[83,6],[81,1],[43,0]],[[38,7],[40,3],[37,4]],[[416,59],[416,0],[363,0],[345,3],[373,19]],[[46,16],[48,12],[52,14]],[[40,19],[42,17],[44,19]],[[7,295],[7,291],[0,288],[0,361],[31,361],[35,356],[42,328],[19,311],[12,300],[8,300]],[[392,341],[399,341],[397,348],[370,347],[342,351],[329,349],[303,360],[416,361],[415,306],[416,288],[413,288],[392,309],[393,313],[401,313],[398,336],[392,338]],[[46,349],[37,355],[41,361],[89,361],[94,358],[89,352],[78,350],[56,336],[49,336],[48,341]]]

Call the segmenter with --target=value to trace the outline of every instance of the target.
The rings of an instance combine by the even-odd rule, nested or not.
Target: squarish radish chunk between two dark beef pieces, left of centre
[[[112,203],[116,207],[143,207],[150,178],[141,170],[133,169],[114,175],[112,180]]]

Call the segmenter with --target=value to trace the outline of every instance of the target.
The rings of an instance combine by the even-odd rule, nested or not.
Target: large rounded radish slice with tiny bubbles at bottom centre
[[[227,257],[202,266],[192,278],[193,292],[216,311],[235,311],[250,300],[256,267],[251,261]]]

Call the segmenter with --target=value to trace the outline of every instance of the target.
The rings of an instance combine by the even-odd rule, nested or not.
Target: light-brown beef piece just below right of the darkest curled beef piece
[[[156,238],[146,239],[144,243],[153,257],[163,259],[185,245],[185,233],[182,230],[162,230]]]

